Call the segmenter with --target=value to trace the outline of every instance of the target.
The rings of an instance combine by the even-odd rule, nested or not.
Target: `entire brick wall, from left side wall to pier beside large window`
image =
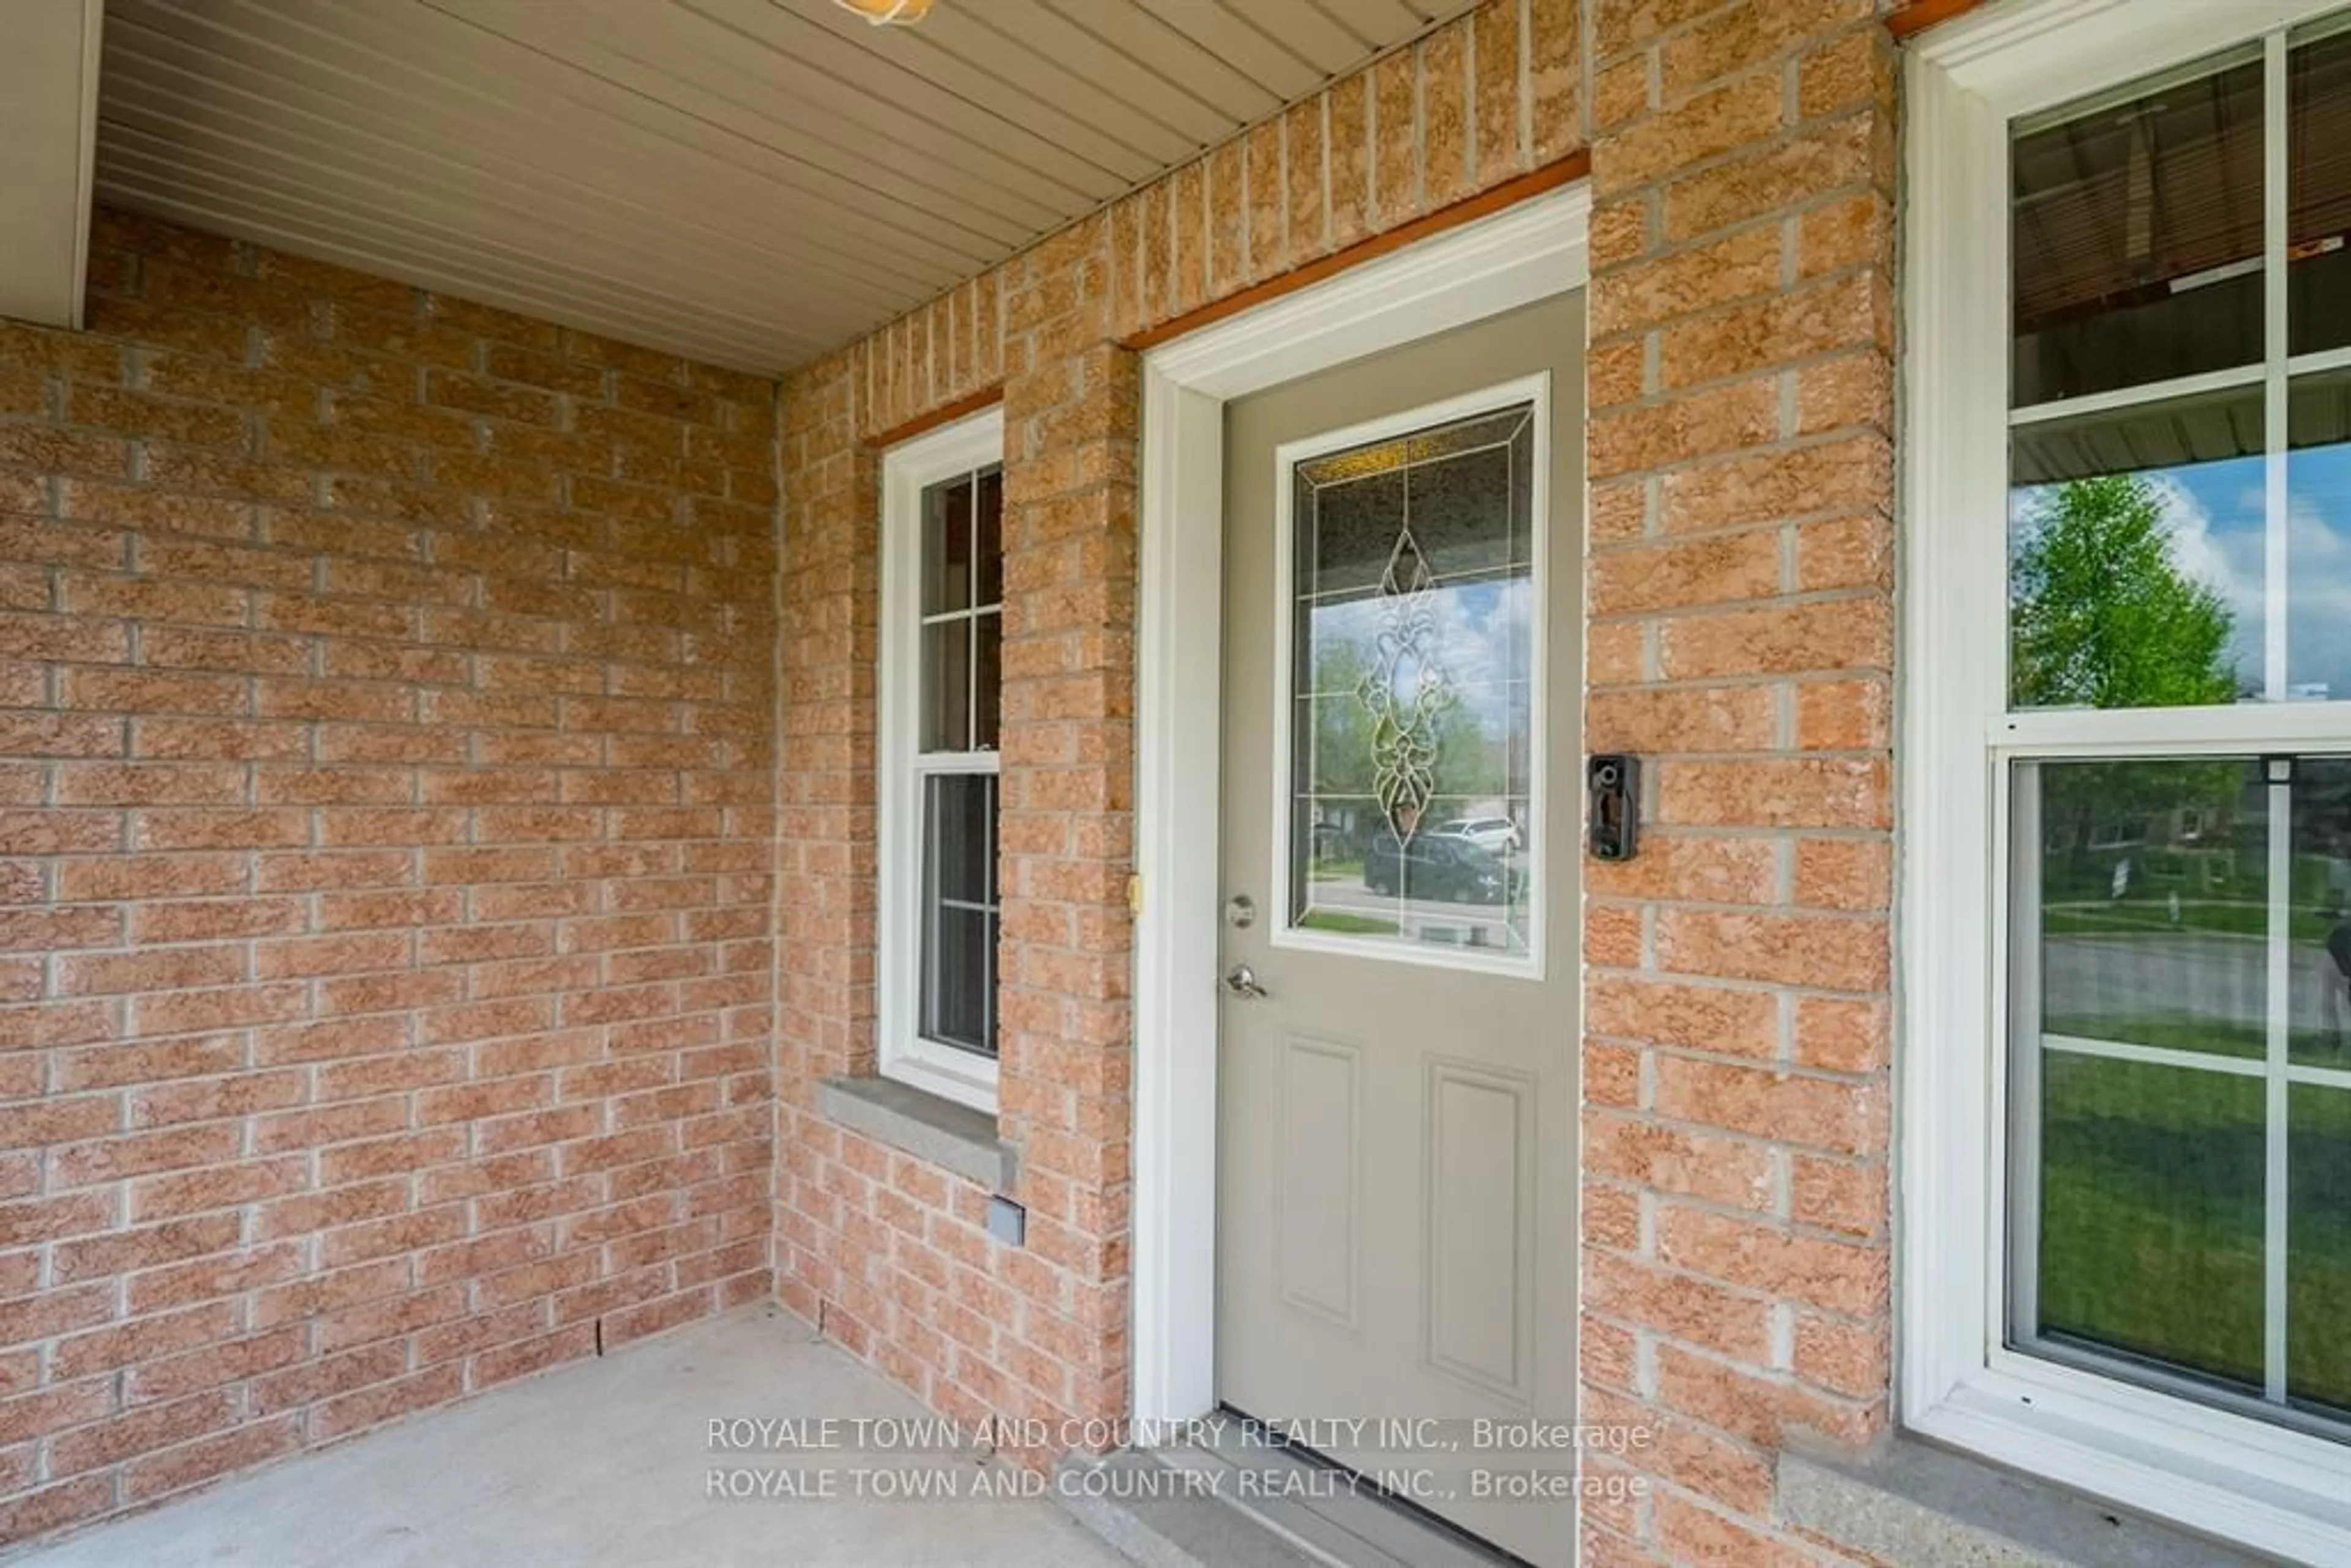
[[[1886,1420],[1871,12],[1488,0],[797,374],[781,581],[766,383],[106,219],[94,331],[0,327],[0,1535],[769,1281],[943,1410],[1124,1413],[1121,343],[1589,150],[1587,748],[1653,830],[1587,867],[1585,1399],[1662,1436],[1589,1561],[1829,1556],[1770,1467]],[[875,442],[992,388],[1025,1248],[811,1110],[875,1053]]]

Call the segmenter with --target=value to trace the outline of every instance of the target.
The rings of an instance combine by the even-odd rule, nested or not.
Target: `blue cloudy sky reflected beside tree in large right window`
[[[2269,578],[2262,458],[2186,463],[2139,477],[2163,503],[2172,559],[2236,616],[2229,656],[2238,691],[2262,696]],[[2012,538],[2031,522],[2038,496],[2041,487],[2012,491]],[[2288,496],[2288,684],[2297,696],[2351,698],[2351,444],[2295,451]]]

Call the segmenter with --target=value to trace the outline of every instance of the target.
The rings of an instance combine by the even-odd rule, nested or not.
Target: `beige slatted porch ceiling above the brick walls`
[[[99,200],[781,371],[1465,0],[108,0]]]

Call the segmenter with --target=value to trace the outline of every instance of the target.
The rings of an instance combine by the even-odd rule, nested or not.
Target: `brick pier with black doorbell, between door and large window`
[[[1782,1434],[1886,1420],[1893,47],[1871,0],[1592,16],[1587,1561],[1806,1561]]]

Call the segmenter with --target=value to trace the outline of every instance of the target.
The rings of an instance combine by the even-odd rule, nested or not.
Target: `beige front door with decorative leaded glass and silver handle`
[[[1528,1422],[1575,1415],[1582,341],[1563,294],[1225,411],[1218,1399],[1535,1563],[1575,1554]]]

